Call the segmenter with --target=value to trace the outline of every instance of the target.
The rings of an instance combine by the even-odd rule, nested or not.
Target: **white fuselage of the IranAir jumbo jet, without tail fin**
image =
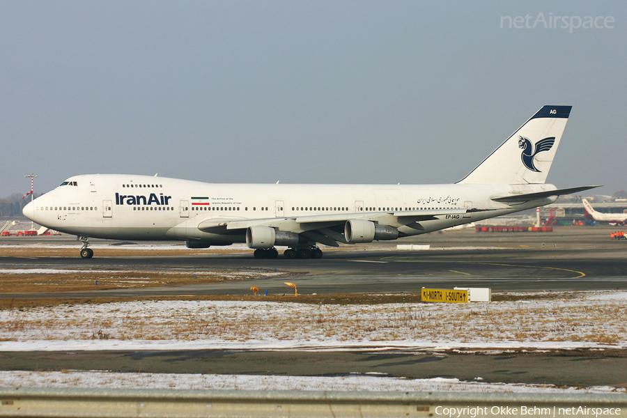
[[[555,186],[210,184],[97,174],[69,178],[29,203],[24,215],[49,229],[84,237],[229,245],[245,241],[244,229],[199,226],[212,221],[218,225],[224,219],[300,233],[320,229],[327,218],[330,225],[358,218],[393,226],[400,236],[417,235],[552,203],[555,196],[516,205],[490,199],[548,189]],[[449,209],[451,214],[446,213]],[[463,209],[474,211],[454,213]],[[434,210],[444,213],[409,224],[407,218],[398,218],[403,212]]]

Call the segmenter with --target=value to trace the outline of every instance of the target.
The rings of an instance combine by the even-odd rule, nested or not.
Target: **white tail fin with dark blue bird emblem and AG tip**
[[[457,183],[544,183],[572,106],[545,106]]]

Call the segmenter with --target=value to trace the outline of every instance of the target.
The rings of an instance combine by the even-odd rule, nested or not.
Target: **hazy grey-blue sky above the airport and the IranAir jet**
[[[30,173],[452,183],[544,104],[573,106],[548,182],[612,194],[626,28],[624,1],[0,0],[0,197]]]

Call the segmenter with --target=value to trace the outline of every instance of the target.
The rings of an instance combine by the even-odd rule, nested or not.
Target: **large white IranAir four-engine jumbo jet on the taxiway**
[[[467,176],[444,185],[212,184],[126,174],[70,177],[24,216],[89,238],[180,240],[188,248],[245,242],[256,258],[320,258],[318,245],[396,240],[547,205],[546,184],[571,106],[544,106]]]

